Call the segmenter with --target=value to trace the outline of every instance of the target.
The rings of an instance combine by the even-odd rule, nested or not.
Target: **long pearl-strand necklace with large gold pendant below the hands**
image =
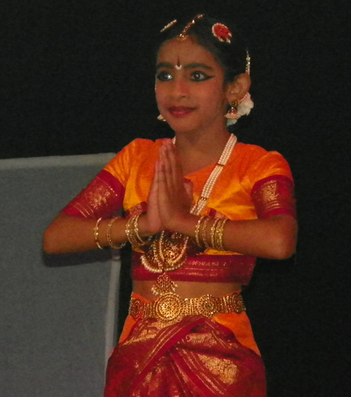
[[[173,144],[175,143],[176,138],[173,138]],[[201,211],[206,206],[208,197],[210,196],[220,173],[223,171],[223,167],[230,158],[230,154],[232,154],[232,150],[236,143],[237,137],[230,134],[227,144],[220,155],[220,159],[204,184],[199,201],[190,210],[191,214],[200,215]],[[206,227],[208,219],[209,218],[205,217],[203,227]],[[200,224],[201,221],[198,223],[197,234],[199,234]],[[199,239],[199,237],[197,237],[197,239]],[[173,283],[166,272],[179,269],[183,266],[187,259],[187,246],[189,240],[189,236],[184,237],[183,234],[172,233],[171,231],[164,230],[161,231],[161,233],[157,235],[157,238],[154,239],[147,253],[141,256],[141,262],[145,269],[152,273],[161,273],[152,287],[154,295],[162,297],[164,295],[174,294],[176,284]],[[204,238],[204,241],[206,241],[206,238]]]

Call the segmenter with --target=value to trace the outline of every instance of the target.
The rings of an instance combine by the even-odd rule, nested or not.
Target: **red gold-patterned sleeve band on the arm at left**
[[[110,217],[121,209],[124,186],[106,170],[102,170],[62,212],[86,218]]]

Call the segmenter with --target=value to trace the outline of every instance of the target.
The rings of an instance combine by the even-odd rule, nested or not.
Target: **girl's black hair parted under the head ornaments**
[[[231,83],[239,74],[245,73],[248,49],[237,27],[233,24],[227,24],[223,20],[215,20],[207,15],[204,15],[202,18],[193,19],[195,23],[187,30],[187,35],[213,55],[220,67],[223,68],[225,74],[224,83]],[[166,41],[179,36],[193,19],[178,20],[178,22],[164,29],[164,32],[160,34],[161,44],[159,48]],[[216,23],[221,23],[230,29],[232,33],[230,43],[220,41],[213,34],[212,27]]]

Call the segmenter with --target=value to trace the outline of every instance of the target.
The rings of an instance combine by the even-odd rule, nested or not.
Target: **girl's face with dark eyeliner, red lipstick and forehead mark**
[[[164,43],[157,58],[156,100],[177,133],[223,128],[227,88],[211,53],[188,38]]]

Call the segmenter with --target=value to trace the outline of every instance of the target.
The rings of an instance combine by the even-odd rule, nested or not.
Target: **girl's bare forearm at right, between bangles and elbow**
[[[195,238],[199,219],[196,215],[187,214],[179,218],[171,229]],[[206,224],[206,241],[210,244],[214,221],[211,219]],[[296,235],[296,220],[289,215],[260,220],[227,221],[223,230],[223,246],[225,250],[243,255],[285,259],[295,252]]]

